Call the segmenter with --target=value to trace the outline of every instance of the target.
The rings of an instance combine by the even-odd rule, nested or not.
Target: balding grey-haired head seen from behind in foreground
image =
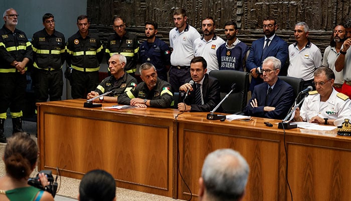
[[[218,149],[210,153],[199,179],[199,200],[242,200],[249,172],[245,158],[233,149]]]

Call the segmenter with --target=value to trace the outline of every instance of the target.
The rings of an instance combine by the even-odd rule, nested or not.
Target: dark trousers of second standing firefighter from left
[[[61,100],[63,90],[63,72],[59,70],[33,70],[33,86],[35,92],[35,102],[46,102],[50,96],[50,101]]]

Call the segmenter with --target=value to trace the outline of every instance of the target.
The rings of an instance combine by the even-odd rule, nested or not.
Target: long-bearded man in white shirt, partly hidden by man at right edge
[[[334,32],[331,34],[330,38],[330,45],[324,50],[322,66],[329,67],[333,70],[335,74],[335,81],[333,87],[336,91],[341,92],[341,86],[344,82],[342,70],[340,72],[337,72],[335,70],[334,63],[337,57],[337,53],[340,52],[343,41],[346,40],[346,30],[343,27],[343,25],[336,25],[334,28]]]

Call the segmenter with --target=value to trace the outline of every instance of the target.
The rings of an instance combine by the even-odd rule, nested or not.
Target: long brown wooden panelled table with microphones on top
[[[40,169],[81,178],[110,172],[118,187],[179,199],[197,199],[206,155],[238,150],[251,171],[244,200],[348,200],[351,140],[336,131],[277,129],[278,120],[210,121],[207,113],[174,109],[83,108],[83,99],[38,103]],[[269,121],[273,127],[266,127]],[[284,149],[284,137],[287,156]],[[179,154],[177,150],[179,149]],[[179,166],[177,157],[179,156]],[[288,158],[288,160],[286,160]]]

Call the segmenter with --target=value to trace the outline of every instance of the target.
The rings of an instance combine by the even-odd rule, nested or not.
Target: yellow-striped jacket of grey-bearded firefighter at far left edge
[[[12,33],[5,25],[0,29],[0,36],[0,72],[18,72],[11,63],[15,60],[23,61],[26,57],[32,60],[31,43],[23,31],[15,29]]]

